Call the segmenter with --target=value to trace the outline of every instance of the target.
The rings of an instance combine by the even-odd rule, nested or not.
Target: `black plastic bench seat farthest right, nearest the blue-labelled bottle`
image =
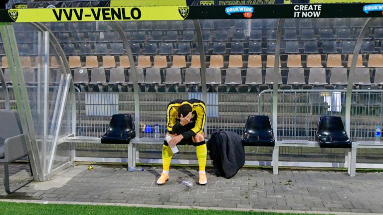
[[[318,123],[315,140],[321,148],[351,148],[343,120],[339,116],[322,116]]]

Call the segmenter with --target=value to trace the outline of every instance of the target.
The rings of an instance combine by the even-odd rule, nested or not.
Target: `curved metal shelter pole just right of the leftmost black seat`
[[[134,58],[132,54],[132,49],[130,48],[129,40],[126,37],[124,30],[118,22],[111,22],[114,28],[117,30],[118,34],[120,34],[120,38],[125,46],[125,52],[128,55],[128,59],[130,62],[130,69],[132,70],[131,76],[129,80],[133,82],[133,95],[134,95],[134,118],[135,118],[135,131],[136,137],[140,138],[140,97],[139,97],[139,87],[138,87],[138,78],[136,73],[136,66],[134,63]]]

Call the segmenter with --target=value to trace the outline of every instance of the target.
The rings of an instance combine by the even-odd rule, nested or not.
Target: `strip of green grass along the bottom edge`
[[[123,206],[56,205],[0,202],[0,215],[297,215],[196,209],[136,208]]]

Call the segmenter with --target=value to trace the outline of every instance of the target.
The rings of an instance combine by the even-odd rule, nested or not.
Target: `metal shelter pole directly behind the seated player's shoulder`
[[[201,90],[202,90],[202,101],[207,103],[207,87],[206,87],[206,62],[205,62],[205,50],[203,47],[202,40],[202,31],[201,26],[198,20],[193,20],[195,31],[197,34],[197,43],[198,43],[198,51],[199,51],[199,60],[201,63]],[[205,126],[203,128],[205,133],[207,132],[207,123],[205,122]]]

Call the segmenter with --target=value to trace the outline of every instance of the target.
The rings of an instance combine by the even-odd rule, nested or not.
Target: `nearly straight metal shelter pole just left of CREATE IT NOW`
[[[281,40],[284,19],[278,20],[277,37],[275,41],[275,59],[273,72],[273,133],[275,141],[278,140],[278,82],[279,82],[279,56],[281,53]],[[278,164],[277,164],[278,165]]]

